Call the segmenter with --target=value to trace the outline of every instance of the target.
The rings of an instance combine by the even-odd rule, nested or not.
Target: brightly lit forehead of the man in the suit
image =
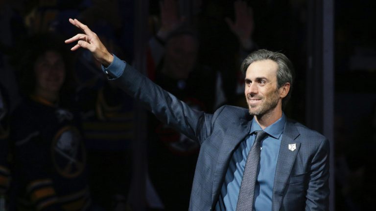
[[[278,64],[272,60],[260,60],[251,63],[246,72],[246,78],[277,78]]]

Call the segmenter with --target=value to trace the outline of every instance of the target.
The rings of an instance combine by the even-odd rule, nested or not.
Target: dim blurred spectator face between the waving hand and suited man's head
[[[174,79],[186,79],[197,58],[197,42],[190,35],[171,38],[166,43],[163,73]]]

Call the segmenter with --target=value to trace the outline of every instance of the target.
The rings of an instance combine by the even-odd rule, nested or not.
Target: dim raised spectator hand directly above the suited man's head
[[[236,0],[234,2],[234,9],[235,21],[232,21],[230,18],[225,18],[225,21],[238,38],[241,46],[244,49],[251,49],[254,47],[252,34],[255,28],[252,7],[249,7],[246,1]]]

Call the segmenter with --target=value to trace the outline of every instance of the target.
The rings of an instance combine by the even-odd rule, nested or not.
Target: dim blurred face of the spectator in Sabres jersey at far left
[[[46,51],[34,64],[36,92],[59,92],[65,80],[65,64],[56,51]]]

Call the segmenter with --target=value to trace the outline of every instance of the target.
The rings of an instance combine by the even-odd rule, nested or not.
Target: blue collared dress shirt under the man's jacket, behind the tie
[[[274,186],[274,175],[276,172],[278,154],[286,117],[282,117],[272,125],[264,129],[269,136],[261,142],[260,168],[255,187],[254,208],[256,211],[271,211]],[[243,177],[245,162],[248,152],[255,141],[256,130],[262,130],[256,120],[252,121],[250,135],[239,144],[235,150],[227,169],[225,180],[221,187],[216,211],[235,211],[240,184]]]

